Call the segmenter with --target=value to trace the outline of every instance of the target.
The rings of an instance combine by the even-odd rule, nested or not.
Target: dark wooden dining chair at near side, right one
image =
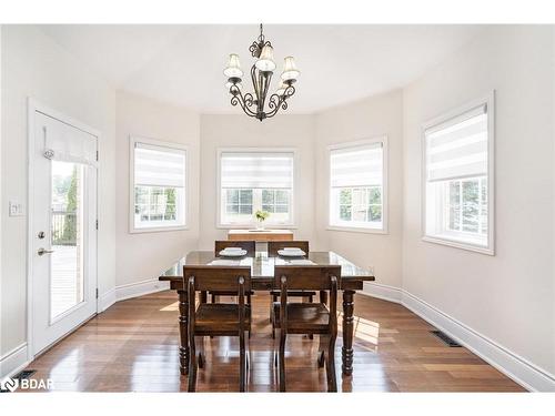
[[[285,341],[287,334],[317,334],[319,367],[325,364],[327,390],[337,392],[335,376],[335,339],[337,337],[337,287],[341,266],[276,266],[274,286],[280,287],[280,302],[272,308],[272,327],[279,329],[279,347],[274,345],[274,363],[279,367],[280,392],[285,392]],[[290,290],[327,291],[325,303],[290,303]],[[278,349],[278,351],[276,351]]]

